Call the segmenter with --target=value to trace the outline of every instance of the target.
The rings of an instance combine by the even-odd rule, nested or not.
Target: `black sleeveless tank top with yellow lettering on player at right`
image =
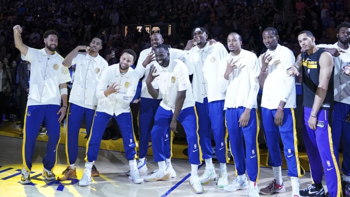
[[[314,54],[309,55],[308,53],[302,53],[302,69],[303,69],[303,106],[305,107],[313,107],[316,90],[319,84],[319,58],[322,53],[324,53],[323,49],[317,50]],[[326,94],[326,98],[323,101],[323,105],[321,108],[333,108],[333,100],[334,100],[334,90],[333,90],[333,74],[334,67],[332,71],[331,78],[328,84],[328,90]]]

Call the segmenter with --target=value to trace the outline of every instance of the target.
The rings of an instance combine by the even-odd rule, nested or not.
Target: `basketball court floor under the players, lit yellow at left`
[[[123,152],[122,139],[112,141],[103,140],[101,149],[96,161],[96,167],[100,172],[99,177],[92,178],[92,182],[86,187],[78,185],[78,181],[84,170],[85,143],[86,134],[80,133],[79,153],[76,161],[77,177],[66,181],[46,181],[41,177],[43,170],[42,158],[46,152],[47,136],[39,135],[35,146],[33,158],[32,182],[30,185],[21,185],[19,183],[22,168],[22,142],[19,137],[20,131],[13,128],[15,123],[6,122],[4,127],[0,128],[0,197],[247,197],[248,190],[228,193],[223,188],[216,186],[216,181],[211,181],[203,185],[203,194],[194,194],[189,185],[191,165],[188,162],[186,144],[174,142],[172,165],[176,171],[176,178],[170,181],[143,182],[135,184],[128,179],[126,172],[129,170],[128,161]],[[81,129],[83,132],[84,129]],[[65,153],[65,132],[61,127],[61,141],[57,150],[57,164],[53,170],[56,176],[59,176],[67,167],[67,158]],[[265,165],[267,151],[261,149],[259,188],[267,186],[273,179],[272,169]],[[305,153],[299,153],[300,163],[305,170],[309,171],[309,165]],[[216,162],[216,171],[219,164]],[[148,173],[141,173],[145,177],[153,170],[157,169],[157,163],[153,161],[152,148],[147,156]],[[286,169],[283,161],[283,169]],[[205,170],[205,164],[199,166],[198,174],[201,175]],[[227,164],[228,181],[235,178],[235,167],[233,161]],[[217,172],[218,174],[218,172]],[[287,170],[282,170],[283,181],[286,187],[286,193],[275,194],[266,197],[291,197],[292,186],[290,178],[287,176]],[[300,188],[311,184],[310,172],[300,179]],[[326,186],[323,181],[324,187]],[[325,190],[327,190],[325,188]],[[263,195],[261,195],[263,196]]]

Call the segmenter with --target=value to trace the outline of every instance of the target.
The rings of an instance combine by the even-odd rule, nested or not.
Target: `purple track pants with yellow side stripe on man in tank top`
[[[312,130],[308,125],[310,114],[311,108],[304,107],[303,137],[310,163],[311,178],[314,183],[321,183],[323,165],[328,192],[332,197],[340,197],[342,190],[339,165],[333,152],[332,132],[328,119],[332,112],[325,109],[319,110],[316,130]]]

